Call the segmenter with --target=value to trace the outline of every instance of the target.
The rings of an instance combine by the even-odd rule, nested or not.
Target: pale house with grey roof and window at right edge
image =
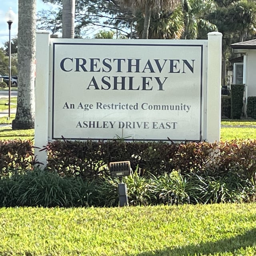
[[[234,53],[233,84],[244,84],[244,113],[247,109],[247,98],[256,96],[256,39],[231,44]]]

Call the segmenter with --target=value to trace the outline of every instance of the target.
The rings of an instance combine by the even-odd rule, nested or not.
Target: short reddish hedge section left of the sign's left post
[[[0,140],[0,177],[26,172],[35,164],[30,140]]]

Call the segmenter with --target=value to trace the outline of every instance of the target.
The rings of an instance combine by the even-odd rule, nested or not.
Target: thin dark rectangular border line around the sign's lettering
[[[53,58],[52,58],[52,140],[117,140],[114,138],[64,138],[64,137],[55,137],[54,136],[54,78],[55,78],[55,46],[56,45],[113,45],[113,46],[179,46],[179,47],[200,47],[201,48],[201,74],[200,74],[200,131],[199,131],[199,138],[197,140],[186,140],[186,141],[202,141],[202,86],[203,86],[203,44],[121,44],[121,43],[65,43],[65,42],[54,42],[53,43]],[[170,141],[170,139],[166,138],[165,140],[159,139],[124,139],[126,141]],[[185,141],[184,139],[176,139],[171,141]]]

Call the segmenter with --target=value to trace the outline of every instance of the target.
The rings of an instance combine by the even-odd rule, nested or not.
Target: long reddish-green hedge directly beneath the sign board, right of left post
[[[230,170],[252,178],[256,172],[256,140],[230,142],[124,142],[54,141],[49,142],[48,168],[60,176],[95,178],[109,175],[108,163],[131,162],[143,173],[153,175],[180,170],[182,174],[222,175]]]

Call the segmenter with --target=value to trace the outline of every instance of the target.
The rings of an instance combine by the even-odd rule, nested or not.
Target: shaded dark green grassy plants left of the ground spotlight
[[[88,206],[92,191],[93,181],[35,169],[0,180],[0,206]]]

